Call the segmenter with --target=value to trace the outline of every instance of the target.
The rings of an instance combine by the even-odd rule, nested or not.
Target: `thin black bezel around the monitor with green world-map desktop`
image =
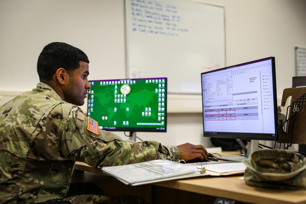
[[[167,101],[167,94],[168,94],[168,90],[167,90],[167,87],[168,87],[168,79],[167,77],[152,77],[152,78],[122,78],[122,79],[106,79],[106,80],[88,80],[89,82],[103,82],[103,81],[124,81],[124,80],[156,80],[156,79],[165,79],[166,83],[165,83],[165,101],[166,101],[166,104],[165,104],[165,129],[156,129],[156,128],[136,128],[136,127],[126,127],[126,128],[116,128],[116,129],[103,129],[103,130],[106,130],[106,131],[110,131],[110,132],[131,132],[134,133],[134,132],[167,132],[167,120],[168,120],[168,114],[167,114],[167,104],[168,104],[168,101]],[[88,103],[87,103],[87,111],[88,111]],[[87,112],[87,116],[88,116],[88,112]],[[90,117],[90,116],[89,116]],[[95,118],[92,118],[92,119],[95,119]],[[99,125],[99,123],[98,123]],[[99,125],[100,126],[100,125]]]

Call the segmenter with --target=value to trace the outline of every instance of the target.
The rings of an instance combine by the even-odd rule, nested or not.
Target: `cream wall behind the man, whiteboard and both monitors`
[[[296,73],[294,48],[306,47],[306,1],[197,1],[225,7],[227,66],[276,58],[280,105],[282,91],[291,87]],[[53,41],[69,43],[88,55],[91,80],[125,78],[124,28],[123,0],[0,0],[0,91],[35,87],[37,57]],[[0,102],[7,98],[1,101],[0,97]],[[209,139],[202,137],[201,104],[193,107],[195,113],[172,111],[167,133],[138,132],[137,136],[164,144],[209,147]],[[125,137],[122,132],[118,135]]]

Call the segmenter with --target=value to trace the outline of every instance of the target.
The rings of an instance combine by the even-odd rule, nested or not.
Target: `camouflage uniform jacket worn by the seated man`
[[[0,107],[0,203],[62,199],[75,161],[93,167],[124,165],[170,156],[175,146],[135,143],[99,130],[87,130],[82,110],[38,83]]]

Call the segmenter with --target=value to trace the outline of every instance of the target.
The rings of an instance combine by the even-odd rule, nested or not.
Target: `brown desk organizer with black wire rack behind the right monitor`
[[[286,104],[285,120],[279,120],[276,135],[280,149],[288,149],[292,144],[306,144],[306,87],[287,88],[283,91],[282,102]],[[284,106],[283,106],[284,107]],[[279,118],[278,118],[279,119]],[[274,145],[274,148],[276,143]]]

